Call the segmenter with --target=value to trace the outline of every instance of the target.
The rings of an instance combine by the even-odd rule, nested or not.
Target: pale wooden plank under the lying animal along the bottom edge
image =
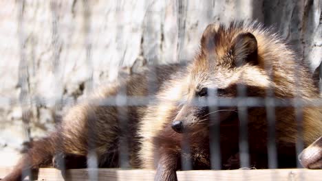
[[[11,168],[0,168],[0,178]],[[38,180],[153,180],[155,171],[142,169],[71,169],[62,176],[61,171],[52,168],[40,169]],[[178,180],[322,180],[322,169],[256,169],[256,170],[193,170],[178,171]]]

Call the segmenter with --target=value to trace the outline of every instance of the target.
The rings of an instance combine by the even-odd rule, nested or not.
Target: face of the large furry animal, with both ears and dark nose
[[[231,34],[210,25],[202,36],[201,46],[200,54],[189,67],[187,90],[172,123],[176,132],[197,132],[212,125],[210,121],[237,119],[236,106],[209,104],[218,101],[218,97],[265,96],[270,85],[266,71],[259,67],[253,34]]]

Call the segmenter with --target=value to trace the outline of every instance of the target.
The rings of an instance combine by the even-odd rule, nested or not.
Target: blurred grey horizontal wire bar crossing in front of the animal
[[[122,104],[120,104],[120,98],[122,98]],[[147,106],[149,104],[158,103],[155,97],[133,97],[122,96],[107,97],[103,99],[82,99],[80,101],[74,101],[74,99],[46,99],[44,97],[32,97],[31,99],[19,100],[10,97],[0,97],[0,106],[29,106],[29,105],[47,105],[47,104],[61,104],[68,106],[76,103],[87,102],[97,106]],[[180,102],[178,102],[180,104]],[[181,102],[182,104],[182,102]],[[193,99],[189,101],[189,104],[194,106],[275,106],[275,107],[302,107],[302,106],[322,106],[322,99],[279,99],[275,97],[208,97],[208,99]]]

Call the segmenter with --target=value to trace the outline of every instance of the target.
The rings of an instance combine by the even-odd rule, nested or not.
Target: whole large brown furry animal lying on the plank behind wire
[[[218,119],[211,119],[213,96],[233,99],[244,96],[319,99],[308,69],[285,43],[258,23],[208,25],[201,49],[188,65],[158,66],[104,88],[92,97],[100,100],[124,94],[150,95],[148,106],[104,106],[88,101],[69,110],[56,132],[34,141],[21,161],[4,180],[19,180],[21,172],[54,165],[86,167],[85,157],[96,153],[101,167],[118,167],[121,144],[129,145],[132,167],[157,169],[155,180],[176,180],[181,163],[191,161],[192,169],[209,169],[210,128],[219,126],[221,163],[239,152],[241,106],[219,106]],[[154,77],[154,78],[153,78]],[[149,84],[155,85],[149,88]],[[208,99],[209,98],[209,99]],[[103,102],[104,103],[104,102]],[[248,107],[248,143],[251,163],[267,167],[267,114],[262,106]],[[275,108],[279,167],[295,167],[297,120],[295,108]],[[303,141],[309,145],[321,136],[320,108],[303,107]],[[216,122],[217,121],[217,122]],[[126,142],[127,141],[127,142]],[[187,149],[182,145],[186,144]],[[188,152],[188,151],[189,152]],[[290,158],[283,165],[283,159]],[[63,162],[61,162],[63,160]],[[293,161],[292,161],[293,160]]]

